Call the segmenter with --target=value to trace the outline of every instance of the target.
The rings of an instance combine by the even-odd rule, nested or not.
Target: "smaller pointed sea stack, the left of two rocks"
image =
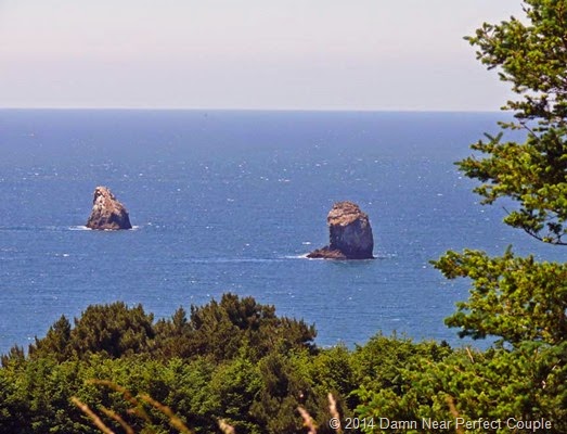
[[[87,228],[100,230],[132,229],[130,217],[124,205],[106,187],[94,189],[92,213]]]

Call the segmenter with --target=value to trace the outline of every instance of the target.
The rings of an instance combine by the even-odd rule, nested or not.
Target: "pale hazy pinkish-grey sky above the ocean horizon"
[[[498,111],[520,0],[0,0],[0,107]]]

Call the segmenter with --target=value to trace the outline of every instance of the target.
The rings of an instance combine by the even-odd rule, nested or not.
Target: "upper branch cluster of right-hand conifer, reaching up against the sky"
[[[478,48],[477,58],[498,68],[519,97],[504,107],[515,112],[503,128],[524,129],[524,143],[488,137],[473,149],[485,154],[459,163],[471,178],[484,182],[475,189],[493,203],[510,197],[519,207],[505,222],[544,242],[564,244],[567,219],[567,1],[524,1],[526,20],[512,17],[485,23],[466,38]]]

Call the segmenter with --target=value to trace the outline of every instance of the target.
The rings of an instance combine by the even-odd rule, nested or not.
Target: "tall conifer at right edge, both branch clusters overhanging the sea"
[[[472,148],[477,155],[458,165],[482,183],[475,189],[491,204],[507,197],[515,204],[504,222],[546,243],[565,244],[567,233],[567,1],[526,0],[526,18],[484,24],[466,39],[477,58],[501,80],[511,82],[517,100],[504,110],[515,120]],[[503,142],[503,132],[523,129],[524,142]],[[495,335],[517,344],[539,341],[558,345],[567,339],[567,267],[480,252],[449,252],[434,261],[446,277],[473,280],[471,298],[447,320],[461,335]],[[526,318],[528,317],[528,318]]]

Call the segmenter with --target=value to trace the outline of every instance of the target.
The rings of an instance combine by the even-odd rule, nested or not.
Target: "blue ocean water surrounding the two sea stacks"
[[[557,257],[501,224],[453,162],[499,113],[0,111],[0,353],[93,303],[156,317],[224,292],[315,323],[320,345],[378,331],[459,344],[467,297],[447,250]],[[131,231],[85,230],[95,186]],[[306,259],[336,201],[370,216],[375,260]]]

